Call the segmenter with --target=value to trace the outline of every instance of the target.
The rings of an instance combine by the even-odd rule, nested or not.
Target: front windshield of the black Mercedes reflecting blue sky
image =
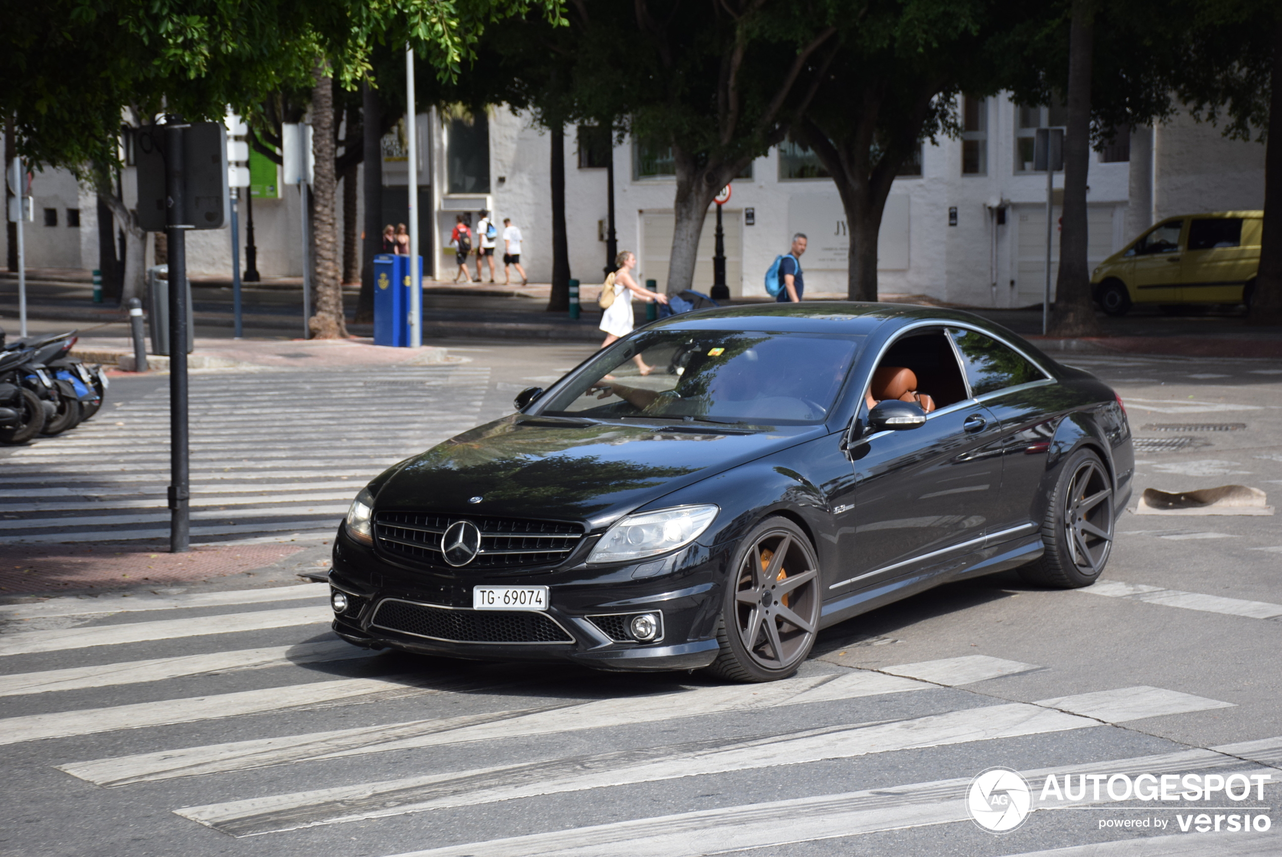
[[[541,414],[819,423],[862,336],[651,331],[606,350]]]

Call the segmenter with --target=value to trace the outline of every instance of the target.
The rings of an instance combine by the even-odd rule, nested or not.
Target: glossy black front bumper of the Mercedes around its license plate
[[[335,538],[329,583],[347,594],[349,607],[336,615],[333,630],[355,646],[397,648],[420,655],[487,661],[562,661],[603,670],[692,670],[717,657],[717,617],[722,598],[726,550],[687,546],[662,560],[628,565],[567,567],[494,574],[467,569],[412,566],[377,553],[347,537]],[[658,566],[658,567],[656,567]],[[633,576],[641,569],[645,576]],[[460,642],[391,630],[376,624],[385,600],[468,614],[472,587],[546,585],[545,616],[565,632],[565,642]],[[662,612],[663,635],[651,643],[612,639],[590,616]]]

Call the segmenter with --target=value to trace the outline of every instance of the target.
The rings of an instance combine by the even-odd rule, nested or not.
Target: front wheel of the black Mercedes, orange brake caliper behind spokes
[[[819,630],[822,601],[814,546],[786,518],[768,518],[740,542],[722,594],[708,666],[729,682],[774,682],[805,662]]]

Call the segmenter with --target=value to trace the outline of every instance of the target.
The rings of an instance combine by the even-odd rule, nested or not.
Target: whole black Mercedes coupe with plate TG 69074
[[[941,583],[1090,585],[1135,469],[1106,384],[923,306],[687,313],[515,405],[356,496],[340,637],[768,682]]]

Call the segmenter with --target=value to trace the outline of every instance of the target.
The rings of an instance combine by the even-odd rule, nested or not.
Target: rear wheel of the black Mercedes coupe
[[[1078,589],[1099,580],[1113,550],[1113,478],[1092,450],[1068,457],[1042,520],[1045,552],[1019,569],[1028,583]]]

